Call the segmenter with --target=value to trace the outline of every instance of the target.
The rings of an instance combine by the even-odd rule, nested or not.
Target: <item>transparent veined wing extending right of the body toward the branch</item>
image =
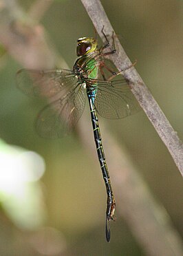
[[[121,81],[97,81],[95,106],[105,118],[125,118],[140,110],[125,79]]]

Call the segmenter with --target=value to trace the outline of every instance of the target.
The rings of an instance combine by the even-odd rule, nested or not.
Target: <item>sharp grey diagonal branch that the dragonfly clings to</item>
[[[103,6],[100,3],[100,0],[81,0],[87,13],[92,19],[94,26],[100,35],[101,39],[105,42],[105,38],[102,33],[102,28],[105,28],[105,34],[112,34],[114,29],[111,27],[109,19],[103,9]],[[131,61],[129,60],[125,50],[120,45],[120,41],[116,38],[116,48],[118,49],[118,53],[112,54],[110,56],[111,60],[114,62],[118,70],[125,70],[127,67],[131,65]],[[169,120],[166,119],[164,113],[160,109],[158,103],[156,103],[155,99],[149,92],[149,89],[142,81],[142,78],[136,71],[134,67],[126,70],[123,73],[123,76],[129,81],[131,85],[131,91],[136,96],[140,106],[144,110],[145,114],[151,121],[153,127],[157,131],[158,135],[166,145],[166,148],[171,153],[171,156],[177,165],[180,173],[183,176],[183,145],[178,138],[176,131],[173,130]]]

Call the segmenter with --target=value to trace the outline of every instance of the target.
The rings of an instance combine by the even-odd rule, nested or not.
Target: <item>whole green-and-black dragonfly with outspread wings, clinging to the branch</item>
[[[26,95],[49,101],[36,119],[36,131],[43,138],[61,138],[72,131],[83,114],[87,94],[96,151],[107,191],[105,234],[109,242],[109,222],[115,219],[116,201],[100,136],[98,114],[104,118],[125,118],[136,113],[140,107],[125,78],[121,75],[119,80],[115,79],[119,73],[111,68],[114,64],[107,58],[116,52],[115,43],[111,47],[105,32],[102,32],[106,40],[102,47],[98,47],[97,40],[92,37],[78,39],[78,58],[72,70],[22,69],[17,72],[17,86]]]

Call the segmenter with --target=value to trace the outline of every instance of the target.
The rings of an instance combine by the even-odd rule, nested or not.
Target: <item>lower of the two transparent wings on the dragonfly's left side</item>
[[[85,96],[83,89],[70,92],[47,105],[36,120],[36,131],[43,138],[60,138],[72,131],[83,114]]]

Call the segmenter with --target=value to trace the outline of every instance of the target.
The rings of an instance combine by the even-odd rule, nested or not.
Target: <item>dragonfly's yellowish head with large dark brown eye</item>
[[[97,47],[96,39],[93,39],[92,37],[82,37],[78,39],[76,54],[77,56],[83,56],[90,52],[94,52],[97,50]]]

